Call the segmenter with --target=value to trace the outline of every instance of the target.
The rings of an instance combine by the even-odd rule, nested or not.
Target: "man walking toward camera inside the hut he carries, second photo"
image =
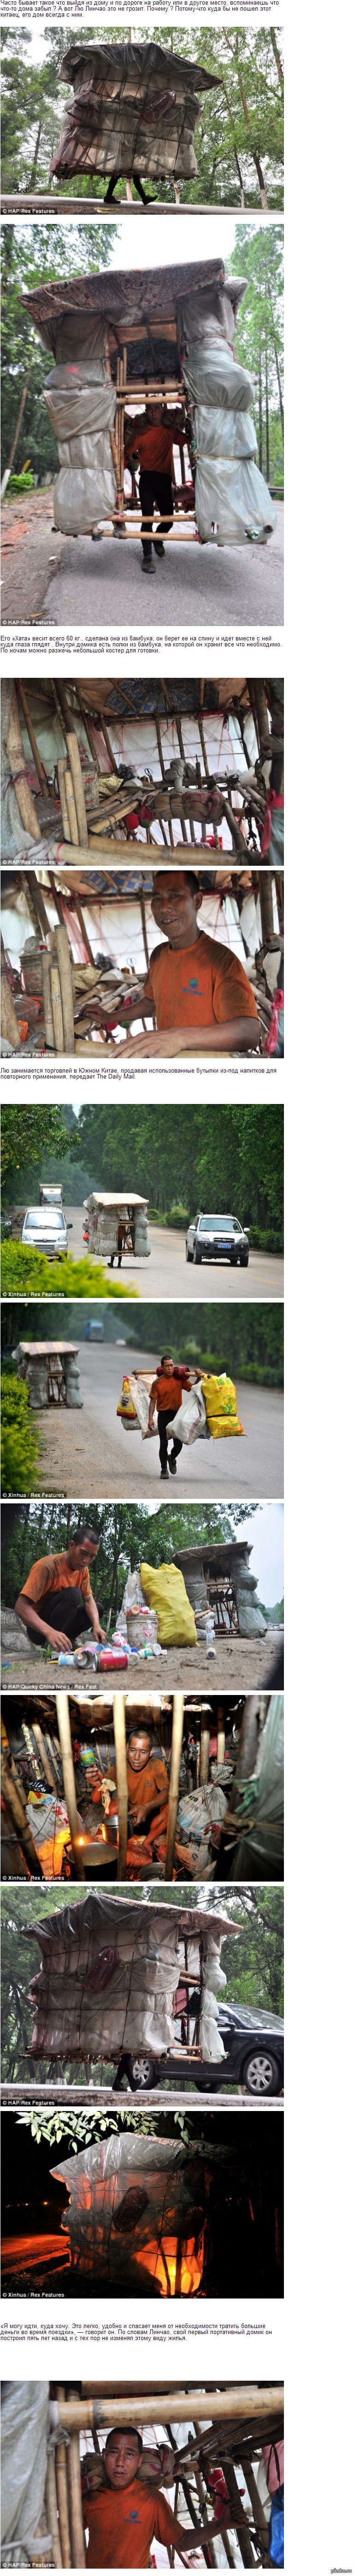
[[[164,554],[164,536],[174,518],[174,448],[185,446],[185,415],[177,404],[174,412],[167,402],[146,402],[146,410],[136,420],[126,420],[126,464],[141,469],[139,474],[139,500],[141,500],[141,546],[144,546],[144,572],[154,572],[154,554]],[[159,510],[156,536],[154,510]],[[154,554],[151,554],[154,546]]]

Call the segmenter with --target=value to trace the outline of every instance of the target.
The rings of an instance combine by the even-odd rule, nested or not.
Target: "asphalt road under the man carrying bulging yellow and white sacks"
[[[195,1440],[177,1458],[177,1476],[159,1481],[159,1437],[141,1440],[141,1430],[123,1430],[115,1417],[123,1370],[156,1368],[156,1350],[131,1350],[123,1355],[113,1345],[80,1345],[82,1409],[67,1406],[38,1414],[41,1466],[38,1489],[74,1494],[85,1502],[236,1502],[239,1497],[282,1494],[282,1394],[269,1386],[244,1386],[239,1378],[241,1440]],[[46,1458],[46,1466],[44,1466]]]

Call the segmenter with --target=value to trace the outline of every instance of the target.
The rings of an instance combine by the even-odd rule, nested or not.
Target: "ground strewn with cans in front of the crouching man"
[[[144,1690],[146,1669],[156,1677],[156,1690],[267,1690],[272,1687],[272,1664],[277,1659],[280,1628],[267,1628],[267,1636],[215,1636],[215,1656],[205,1656],[200,1646],[167,1646],[164,1656],[154,1656],[151,1667],[144,1662],[133,1664],[136,1687]],[[74,1685],[74,1664],[69,1680],[69,1664],[59,1664],[56,1656],[3,1656],[3,1690],[67,1690]],[[92,1692],[92,1669],[85,1664],[77,1674],[80,1692]],[[103,1690],[110,1687],[113,1674],[103,1677]],[[128,1682],[128,1672],[126,1672]]]

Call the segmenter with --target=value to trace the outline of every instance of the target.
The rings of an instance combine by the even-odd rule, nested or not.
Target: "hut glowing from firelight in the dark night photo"
[[[156,2138],[105,2138],[80,2156],[54,2164],[69,2190],[62,2228],[74,2264],[100,2264],[103,2277],[128,2285],[133,2257],[164,2236],[192,2236],[203,2210],[192,2205],[185,2148]],[[203,2195],[203,2169],[200,2169]]]

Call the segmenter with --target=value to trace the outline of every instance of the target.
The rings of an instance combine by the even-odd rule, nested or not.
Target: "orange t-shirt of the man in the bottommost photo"
[[[82,2512],[90,2527],[87,2568],[149,2568],[151,2540],[169,2545],[177,2530],[167,2496],[144,2478],[131,2478],[121,2494],[103,2486]]]

